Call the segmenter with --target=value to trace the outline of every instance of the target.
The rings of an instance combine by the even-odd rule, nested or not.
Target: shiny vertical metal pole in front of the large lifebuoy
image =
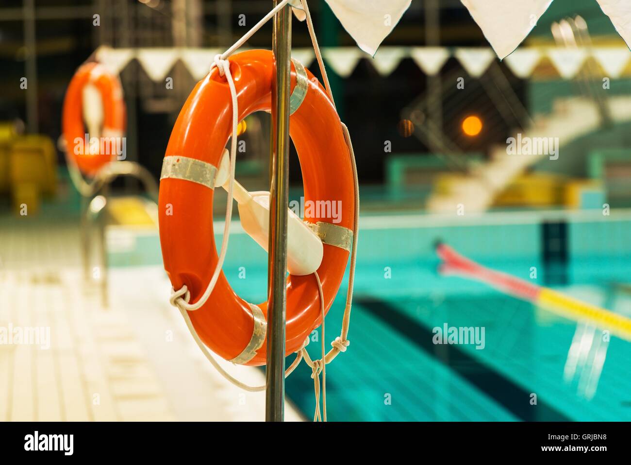
[[[274,0],[274,5],[279,0]],[[272,37],[276,79],[272,82],[268,256],[268,334],[265,420],[285,418],[285,277],[289,190],[289,91],[292,8],[274,16]]]

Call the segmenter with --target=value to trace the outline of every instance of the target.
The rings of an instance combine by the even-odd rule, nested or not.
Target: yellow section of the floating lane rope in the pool
[[[631,319],[613,311],[558,293],[547,287],[541,288],[537,303],[557,310],[558,313],[572,320],[584,320],[598,325],[604,330],[631,342]]]

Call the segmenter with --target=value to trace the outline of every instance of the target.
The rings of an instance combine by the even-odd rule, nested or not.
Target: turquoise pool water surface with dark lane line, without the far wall
[[[422,272],[416,277],[423,282]],[[590,373],[590,363],[564,378],[576,322],[463,279],[436,279],[449,282],[452,291],[427,289],[421,295],[420,284],[419,295],[404,297],[389,296],[384,287],[357,289],[351,346],[327,366],[329,420],[631,420],[629,342],[611,337],[596,394],[589,399],[581,390],[581,376]],[[264,289],[262,273],[259,285]],[[242,296],[247,294],[243,287],[237,291]],[[601,305],[608,300],[615,311],[631,308],[624,291],[611,295],[602,286],[587,285],[568,293]],[[339,334],[343,308],[341,291],[326,320],[327,348]],[[484,327],[484,348],[433,344],[432,329],[444,323]],[[320,357],[318,341],[309,345],[312,358]],[[309,368],[302,365],[286,389],[310,416],[314,387]]]

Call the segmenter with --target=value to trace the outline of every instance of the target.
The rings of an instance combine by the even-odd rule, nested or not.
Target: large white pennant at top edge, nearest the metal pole
[[[357,45],[374,56],[411,0],[326,0]]]

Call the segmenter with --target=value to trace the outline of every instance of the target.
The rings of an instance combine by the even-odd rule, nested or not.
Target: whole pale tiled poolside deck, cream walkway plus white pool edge
[[[160,267],[111,269],[104,309],[78,238],[64,222],[0,226],[0,328],[50,328],[49,349],[0,345],[0,421],[264,419],[264,393],[233,387],[196,347]],[[289,403],[286,420],[302,420]]]

